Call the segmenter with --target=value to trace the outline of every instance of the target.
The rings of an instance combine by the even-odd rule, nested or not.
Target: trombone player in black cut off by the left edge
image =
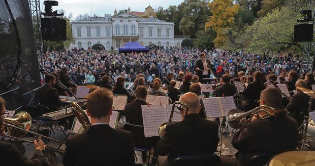
[[[5,120],[5,101],[0,97],[0,136],[6,135],[4,128]],[[18,151],[18,148],[14,144],[0,140],[0,163],[1,165],[44,165],[45,156],[43,150],[45,149],[45,144],[42,140],[34,140],[35,152],[33,157],[28,159],[23,157],[23,155]]]

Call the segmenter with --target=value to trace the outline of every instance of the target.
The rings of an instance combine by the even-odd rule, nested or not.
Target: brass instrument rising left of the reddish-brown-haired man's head
[[[87,132],[88,129],[91,127],[91,122],[89,121],[86,113],[76,102],[72,102],[71,105],[72,112],[77,117],[79,122],[82,124],[82,127],[79,129],[78,134]]]

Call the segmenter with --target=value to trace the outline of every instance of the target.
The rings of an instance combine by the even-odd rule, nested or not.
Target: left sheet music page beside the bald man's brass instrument
[[[162,123],[167,122],[165,104],[161,105],[141,105],[143,130],[145,137],[159,136],[157,132]]]

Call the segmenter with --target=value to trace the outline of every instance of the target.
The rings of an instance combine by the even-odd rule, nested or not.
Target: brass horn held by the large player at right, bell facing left
[[[274,108],[261,105],[247,112],[243,112],[239,109],[231,109],[228,111],[226,119],[231,128],[240,129],[244,125],[247,115],[253,115],[259,119],[266,119],[275,115],[275,113]]]

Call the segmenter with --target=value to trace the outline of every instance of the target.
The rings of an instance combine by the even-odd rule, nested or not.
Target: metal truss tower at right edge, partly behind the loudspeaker
[[[315,18],[315,0],[309,0],[308,3],[308,10],[312,10],[313,12],[313,20],[312,24],[314,24],[314,18]],[[314,29],[313,29],[314,33]],[[303,48],[303,56],[302,56],[302,70],[301,73],[307,73],[307,72],[312,72],[314,71],[314,55],[315,55],[315,42],[314,41],[309,41],[304,43],[304,48]]]

